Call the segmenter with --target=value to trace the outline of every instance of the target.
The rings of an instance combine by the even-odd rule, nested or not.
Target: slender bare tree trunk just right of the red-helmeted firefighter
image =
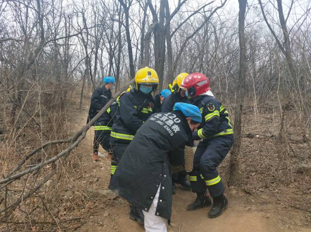
[[[240,41],[240,70],[239,84],[240,87],[235,108],[234,118],[234,144],[231,150],[230,158],[230,175],[228,185],[232,186],[238,182],[239,175],[239,154],[242,143],[242,110],[244,105],[244,86],[246,74],[246,42],[244,35],[245,28],[245,11],[247,0],[239,0],[239,41]]]

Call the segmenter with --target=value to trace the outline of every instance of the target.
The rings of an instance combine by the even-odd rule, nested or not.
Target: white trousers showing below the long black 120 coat
[[[155,199],[150,206],[149,212],[146,212],[144,210],[142,211],[142,213],[145,216],[144,226],[145,226],[146,232],[167,232],[167,227],[166,227],[167,219],[155,215],[156,206],[157,206],[157,202],[158,202],[159,195],[160,195],[160,187],[161,185],[157,189]]]

